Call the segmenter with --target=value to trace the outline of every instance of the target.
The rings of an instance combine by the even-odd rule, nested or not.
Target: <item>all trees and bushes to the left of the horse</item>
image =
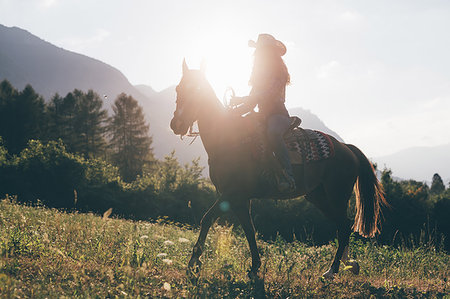
[[[142,107],[120,94],[112,115],[93,90],[55,94],[0,83],[0,198],[137,220],[198,224],[215,199],[199,160],[153,156]]]

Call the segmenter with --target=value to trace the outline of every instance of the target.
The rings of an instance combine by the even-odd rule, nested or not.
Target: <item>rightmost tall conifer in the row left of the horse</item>
[[[113,161],[124,181],[133,181],[142,173],[145,162],[153,159],[152,138],[142,107],[131,96],[120,94],[113,105],[109,131]]]

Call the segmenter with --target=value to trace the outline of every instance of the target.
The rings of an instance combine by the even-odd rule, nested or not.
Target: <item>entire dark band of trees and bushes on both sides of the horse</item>
[[[217,199],[198,160],[180,165],[174,153],[155,159],[137,101],[119,95],[111,116],[103,101],[92,90],[74,90],[45,103],[31,86],[18,91],[1,82],[0,198],[98,214],[113,208],[114,215],[131,219],[198,225]],[[396,181],[385,169],[381,183],[391,207],[383,209],[378,242],[450,250],[450,187],[438,174],[428,186]],[[350,218],[354,204],[353,196]],[[255,200],[252,215],[266,240],[318,245],[336,237],[334,224],[304,197]],[[232,213],[221,221],[237,224]]]

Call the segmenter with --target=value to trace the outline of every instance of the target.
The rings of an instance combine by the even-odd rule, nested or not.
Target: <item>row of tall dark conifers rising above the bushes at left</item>
[[[149,125],[132,96],[120,94],[112,111],[109,117],[93,90],[55,94],[45,103],[30,85],[18,91],[7,80],[0,83],[0,136],[9,153],[18,154],[31,139],[60,139],[69,152],[117,165],[131,182],[154,160]]]

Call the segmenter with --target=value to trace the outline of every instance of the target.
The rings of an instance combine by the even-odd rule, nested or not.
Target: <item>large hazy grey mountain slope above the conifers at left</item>
[[[31,84],[44,98],[74,88],[94,89],[114,99],[121,92],[142,97],[116,68],[56,47],[17,27],[0,25],[0,80],[23,89]]]

